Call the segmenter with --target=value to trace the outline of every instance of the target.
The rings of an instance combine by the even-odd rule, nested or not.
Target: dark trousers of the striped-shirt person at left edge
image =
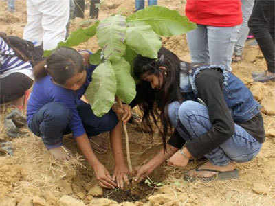
[[[21,98],[32,87],[32,79],[23,73],[11,73],[0,78],[0,104]]]

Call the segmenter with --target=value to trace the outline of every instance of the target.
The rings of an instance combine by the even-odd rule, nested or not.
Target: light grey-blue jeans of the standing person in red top
[[[187,33],[187,42],[193,63],[225,65],[232,71],[231,62],[237,38],[236,27],[197,25]]]

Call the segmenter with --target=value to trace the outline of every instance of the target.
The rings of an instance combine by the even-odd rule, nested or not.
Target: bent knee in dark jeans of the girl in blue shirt
[[[51,102],[47,104],[45,109],[46,122],[52,122],[55,126],[65,128],[72,119],[72,113],[62,103]]]

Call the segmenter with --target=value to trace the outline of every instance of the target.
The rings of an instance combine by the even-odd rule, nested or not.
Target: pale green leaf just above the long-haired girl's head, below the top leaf
[[[157,58],[157,52],[162,47],[162,41],[150,25],[128,27],[126,44],[137,54],[148,58]]]

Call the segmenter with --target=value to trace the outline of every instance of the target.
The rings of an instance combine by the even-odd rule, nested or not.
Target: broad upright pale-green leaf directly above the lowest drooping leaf
[[[98,25],[96,32],[98,44],[102,48],[104,58],[111,61],[120,60],[124,55],[126,45],[126,20],[124,16],[110,16]]]

